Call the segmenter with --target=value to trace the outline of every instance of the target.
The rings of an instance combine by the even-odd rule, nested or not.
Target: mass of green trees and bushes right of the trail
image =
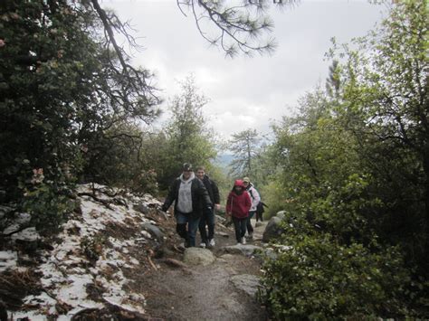
[[[278,247],[291,247],[266,263],[276,318],[427,318],[425,38],[427,4],[393,5],[381,28],[343,46],[327,91],[274,127],[281,172],[266,188],[287,212]]]

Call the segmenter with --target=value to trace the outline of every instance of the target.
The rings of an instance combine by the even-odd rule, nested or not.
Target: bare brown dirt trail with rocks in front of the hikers
[[[264,225],[255,230],[256,240],[249,244],[260,244],[257,239],[262,237]],[[215,233],[216,246],[212,251],[216,260],[209,266],[168,266],[166,258],[183,259],[183,254],[176,250],[164,250],[162,258],[154,260],[159,269],[146,274],[141,285],[145,288],[148,301],[145,308],[149,316],[167,320],[267,319],[265,310],[255,298],[235,288],[231,281],[235,275],[259,275],[261,262],[243,255],[224,255],[224,246],[235,244],[234,231],[219,226],[216,231],[224,232],[228,237]],[[180,242],[173,235],[172,241]],[[168,247],[175,248],[173,243],[166,249]]]

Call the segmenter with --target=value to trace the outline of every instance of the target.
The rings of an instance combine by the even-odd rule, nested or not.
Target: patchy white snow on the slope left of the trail
[[[91,186],[82,185],[78,192],[91,193]],[[104,186],[96,185],[102,189]],[[116,193],[118,191],[115,191]],[[102,195],[102,194],[100,194]],[[133,293],[127,285],[131,280],[125,278],[122,268],[141,269],[142,262],[129,255],[134,249],[151,239],[147,231],[136,233],[135,238],[128,240],[116,239],[114,235],[106,234],[108,224],[130,227],[136,231],[142,222],[152,222],[140,212],[132,210],[132,203],[145,203],[150,207],[161,203],[152,196],[145,194],[140,198],[132,195],[128,200],[128,207],[113,204],[111,197],[97,194],[97,198],[108,200],[110,208],[98,203],[90,196],[81,196],[81,215],[74,217],[63,225],[63,230],[57,235],[59,241],[52,244],[53,250],[43,250],[43,263],[37,269],[42,274],[41,284],[49,296],[42,292],[39,296],[28,296],[24,302],[28,305],[37,304],[39,311],[18,311],[14,317],[28,316],[30,319],[46,319],[47,314],[57,317],[58,320],[70,320],[71,316],[85,308],[102,308],[108,302],[128,311],[145,313],[145,297]],[[132,198],[132,199],[131,199]],[[131,225],[132,226],[131,226]],[[96,246],[96,235],[105,235],[100,241],[99,248],[94,247],[98,260],[90,261],[85,255],[84,248]],[[143,236],[143,237],[142,237]],[[146,238],[146,239],[145,239]],[[94,241],[87,244],[86,241]],[[86,244],[86,245],[82,245]],[[94,250],[91,248],[91,250]],[[16,267],[17,255],[12,251],[0,251],[0,271]],[[101,297],[104,302],[95,302],[88,297],[88,286],[96,285],[104,291]],[[127,288],[125,291],[123,288]],[[71,307],[66,315],[56,310],[56,304],[64,303]]]

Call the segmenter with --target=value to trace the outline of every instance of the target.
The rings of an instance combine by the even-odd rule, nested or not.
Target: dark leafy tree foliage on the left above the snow
[[[149,123],[157,116],[158,100],[147,85],[150,73],[131,68],[130,57],[112,48],[109,33],[100,26],[126,29],[110,13],[106,20],[95,3],[1,4],[0,149],[5,153],[0,156],[0,189],[5,202],[20,202],[19,182],[32,169],[42,168],[45,182],[52,182],[38,187],[46,200],[57,192],[61,199],[55,186],[77,177],[106,178],[97,174],[111,169],[105,161],[109,147],[120,154],[132,144],[119,141],[113,128],[136,118]],[[100,159],[103,167],[97,164]],[[32,201],[25,202],[35,206],[37,193],[30,191]]]

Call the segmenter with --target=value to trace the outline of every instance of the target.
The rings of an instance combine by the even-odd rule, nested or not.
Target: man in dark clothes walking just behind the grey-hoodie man
[[[212,201],[214,204],[213,210],[211,212],[203,212],[198,226],[201,235],[200,247],[212,248],[215,246],[215,210],[219,211],[221,208],[219,189],[217,188],[215,182],[205,175],[204,166],[199,166],[196,168],[196,177],[198,177],[203,182],[205,189],[210,196],[210,201]],[[208,228],[208,235],[205,226]]]

